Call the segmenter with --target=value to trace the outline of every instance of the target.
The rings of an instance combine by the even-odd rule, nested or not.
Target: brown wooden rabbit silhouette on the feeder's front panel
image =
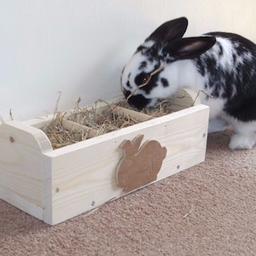
[[[119,148],[123,149],[123,158],[119,161],[116,171],[116,183],[125,192],[139,189],[157,179],[167,149],[157,141],[148,141],[140,145],[143,135],[132,141],[125,140]]]

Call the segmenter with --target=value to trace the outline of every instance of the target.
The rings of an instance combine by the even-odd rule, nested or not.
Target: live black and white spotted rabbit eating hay
[[[184,17],[167,21],[141,44],[124,67],[121,86],[138,110],[179,88],[204,91],[210,107],[209,132],[232,125],[231,149],[256,143],[256,45],[239,35],[211,32],[183,38]],[[212,97],[210,97],[212,96]]]

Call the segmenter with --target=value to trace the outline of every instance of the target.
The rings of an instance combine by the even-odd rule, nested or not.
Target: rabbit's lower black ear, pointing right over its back
[[[214,37],[181,38],[167,43],[163,54],[169,55],[173,61],[193,59],[212,48],[215,43]]]

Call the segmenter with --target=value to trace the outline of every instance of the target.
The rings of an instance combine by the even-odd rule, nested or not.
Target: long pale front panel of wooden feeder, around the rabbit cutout
[[[166,147],[157,181],[201,163],[208,114],[206,106],[198,105],[45,153],[44,201],[52,205],[45,208],[44,221],[58,224],[125,195],[115,182],[122,158],[119,146],[139,134],[144,136],[143,143],[154,139]]]

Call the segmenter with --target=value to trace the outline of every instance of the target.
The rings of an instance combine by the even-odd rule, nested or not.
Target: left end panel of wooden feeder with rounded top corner
[[[43,131],[15,121],[0,125],[0,198],[41,219],[42,152],[49,150]]]

